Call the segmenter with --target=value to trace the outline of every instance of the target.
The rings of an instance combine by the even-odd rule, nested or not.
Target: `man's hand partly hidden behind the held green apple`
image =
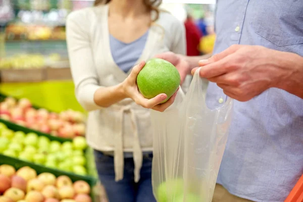
[[[155,58],[166,60],[177,68],[181,77],[181,85],[184,82],[186,75],[190,74],[191,69],[189,67],[189,63],[184,59],[184,56],[177,55],[172,52],[166,52],[156,55]]]

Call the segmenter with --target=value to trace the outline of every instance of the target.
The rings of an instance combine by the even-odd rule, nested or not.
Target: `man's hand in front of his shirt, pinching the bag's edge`
[[[244,102],[270,87],[278,87],[294,74],[285,57],[284,52],[263,46],[232,45],[209,60],[200,61],[203,68],[199,74],[217,83],[226,95]]]

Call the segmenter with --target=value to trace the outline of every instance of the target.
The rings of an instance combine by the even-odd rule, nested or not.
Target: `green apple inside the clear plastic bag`
[[[178,194],[184,192],[184,182],[182,179],[172,179],[162,182],[157,188],[157,199],[159,202],[169,201]],[[188,200],[190,201],[190,200]]]

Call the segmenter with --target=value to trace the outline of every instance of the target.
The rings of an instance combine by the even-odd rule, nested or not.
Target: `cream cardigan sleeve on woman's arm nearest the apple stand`
[[[71,13],[66,21],[66,38],[76,98],[86,111],[93,111],[102,109],[93,98],[101,86],[93,62],[87,25],[83,13]]]

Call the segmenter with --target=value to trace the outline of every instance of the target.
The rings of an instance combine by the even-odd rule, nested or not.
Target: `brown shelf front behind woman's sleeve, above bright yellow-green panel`
[[[41,82],[49,80],[71,80],[69,67],[40,69],[3,69],[0,70],[0,82]]]

